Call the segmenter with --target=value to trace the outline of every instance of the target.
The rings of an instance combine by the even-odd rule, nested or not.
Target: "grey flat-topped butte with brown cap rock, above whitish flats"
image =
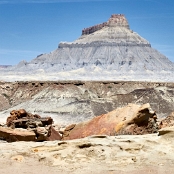
[[[173,70],[173,64],[150,43],[130,30],[124,15],[111,15],[105,23],[82,30],[74,42],[61,42],[50,54],[29,64],[76,69],[96,65],[114,70]]]

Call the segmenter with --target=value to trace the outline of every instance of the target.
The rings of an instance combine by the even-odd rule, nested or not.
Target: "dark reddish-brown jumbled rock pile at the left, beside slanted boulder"
[[[5,126],[0,127],[0,137],[6,141],[60,140],[60,134],[52,127],[51,117],[41,118],[24,109],[10,112]]]

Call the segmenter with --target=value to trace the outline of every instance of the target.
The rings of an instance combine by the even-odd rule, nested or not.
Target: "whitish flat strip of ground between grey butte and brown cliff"
[[[32,71],[32,70],[31,70]],[[173,82],[171,71],[153,72],[146,70],[144,74],[132,70],[118,72],[118,70],[104,70],[99,67],[92,69],[78,68],[76,70],[62,72],[34,72],[27,74],[21,72],[3,72],[0,71],[0,81],[61,81],[61,80],[86,80],[86,81],[151,81],[151,82]]]

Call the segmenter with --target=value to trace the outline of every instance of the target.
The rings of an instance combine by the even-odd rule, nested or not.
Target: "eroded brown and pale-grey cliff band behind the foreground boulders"
[[[128,103],[150,103],[158,117],[174,108],[174,83],[158,82],[14,82],[0,83],[0,121],[9,112],[24,108],[51,116],[56,124],[79,123]],[[5,119],[4,119],[5,118]]]

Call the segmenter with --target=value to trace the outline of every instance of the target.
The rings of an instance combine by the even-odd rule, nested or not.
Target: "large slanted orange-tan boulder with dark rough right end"
[[[68,126],[63,139],[77,139],[91,135],[142,135],[156,133],[157,116],[149,104],[129,104],[92,120]]]

